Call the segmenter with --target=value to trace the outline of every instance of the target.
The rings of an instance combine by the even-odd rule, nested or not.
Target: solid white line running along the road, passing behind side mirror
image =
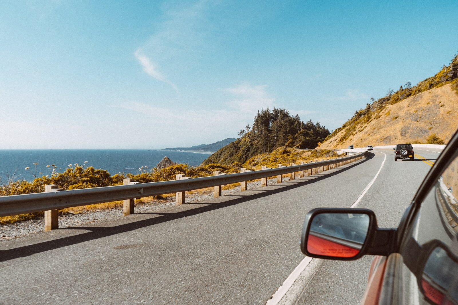
[[[382,153],[381,151],[378,151],[378,152]],[[380,174],[380,171],[382,171],[382,167],[385,164],[385,161],[387,160],[387,154],[385,154],[385,153],[382,153],[382,154],[385,155],[385,158],[383,159],[383,162],[382,162],[382,165],[380,166],[380,169],[377,171],[375,177],[371,180],[371,182],[369,182],[369,184],[365,187],[365,189],[364,189],[363,193],[361,193],[360,197],[358,197],[358,199],[356,199],[356,201],[351,205],[350,208],[354,208],[356,206],[356,204],[358,204],[361,201],[361,199],[363,198],[365,193],[367,193],[369,188],[374,183],[374,181],[377,178],[378,174]],[[291,286],[293,286],[294,282],[300,276],[300,274],[305,270],[305,268],[307,268],[307,266],[311,262],[311,260],[312,260],[311,257],[306,256],[302,260],[302,262],[300,262],[300,264],[297,265],[296,268],[294,268],[294,271],[291,274],[289,274],[288,278],[286,278],[286,280],[283,282],[283,284],[280,286],[280,288],[278,288],[278,290],[273,294],[272,299],[267,300],[266,305],[277,305],[278,302],[280,300],[282,300],[284,295],[291,288]]]

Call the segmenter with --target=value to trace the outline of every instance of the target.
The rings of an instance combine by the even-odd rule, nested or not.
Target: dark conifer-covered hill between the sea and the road
[[[285,109],[273,108],[258,112],[251,130],[248,124],[239,134],[239,139],[209,156],[202,165],[243,164],[255,155],[269,154],[278,147],[315,147],[330,132],[319,122],[309,120],[304,123],[298,115],[293,116]]]

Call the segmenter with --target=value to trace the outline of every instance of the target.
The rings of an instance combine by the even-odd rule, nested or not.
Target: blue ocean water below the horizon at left
[[[177,163],[197,166],[209,154],[160,150],[0,150],[0,179],[5,182],[14,174],[15,180],[32,181],[34,162],[38,162],[37,177],[51,175],[52,169],[47,165],[55,164],[57,169],[64,171],[69,164],[84,164],[84,161],[87,166],[107,170],[111,175],[119,172],[137,174],[138,168],[153,168],[164,156]],[[29,170],[25,170],[27,166]]]

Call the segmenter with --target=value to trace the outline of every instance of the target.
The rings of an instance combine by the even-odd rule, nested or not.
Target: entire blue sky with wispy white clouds
[[[0,149],[236,137],[258,109],[338,128],[458,51],[458,2],[0,1]]]

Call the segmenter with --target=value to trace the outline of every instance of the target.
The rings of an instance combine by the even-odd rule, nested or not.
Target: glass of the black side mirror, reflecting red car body
[[[329,257],[354,257],[369,230],[369,215],[322,213],[311,219],[307,251]]]

